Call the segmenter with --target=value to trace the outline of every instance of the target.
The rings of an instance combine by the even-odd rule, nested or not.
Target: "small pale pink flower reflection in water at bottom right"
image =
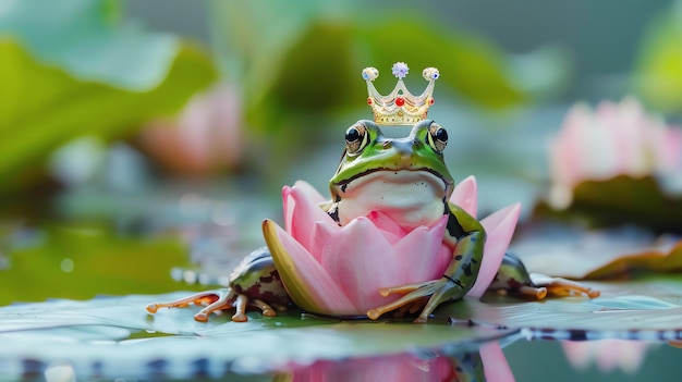
[[[610,372],[618,368],[630,374],[640,369],[649,345],[644,341],[626,340],[561,342],[569,362],[579,370],[587,369],[594,361],[601,372]]]

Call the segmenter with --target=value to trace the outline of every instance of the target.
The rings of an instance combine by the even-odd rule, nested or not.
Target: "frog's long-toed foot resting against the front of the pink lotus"
[[[389,311],[398,310],[399,313],[415,313],[422,309],[419,317],[414,322],[424,323],[438,305],[461,295],[461,285],[444,276],[424,283],[381,288],[379,293],[383,297],[392,294],[403,294],[403,296],[392,303],[370,309],[367,311],[367,317],[376,320]]]

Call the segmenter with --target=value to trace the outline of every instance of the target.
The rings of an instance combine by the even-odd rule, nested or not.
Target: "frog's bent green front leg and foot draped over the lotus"
[[[399,309],[405,305],[422,304],[428,297],[424,309],[415,322],[426,322],[430,313],[444,301],[460,299],[474,286],[483,261],[486,233],[483,225],[460,207],[447,204],[448,224],[443,243],[454,248],[452,261],[442,278],[412,285],[400,285],[382,288],[382,296],[395,293],[404,294],[391,304],[380,306],[367,312],[367,317],[376,320],[385,312]]]

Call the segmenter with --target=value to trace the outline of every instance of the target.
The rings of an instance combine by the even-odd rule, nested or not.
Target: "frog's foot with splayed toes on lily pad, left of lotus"
[[[220,312],[221,310],[234,308],[234,315],[232,321],[245,322],[248,321],[246,317],[246,307],[254,306],[263,311],[263,316],[277,316],[277,311],[268,304],[260,299],[249,300],[248,297],[242,294],[234,293],[234,291],[224,288],[218,291],[199,292],[187,297],[179,298],[168,303],[155,303],[147,305],[147,311],[156,313],[159,308],[183,308],[194,304],[196,306],[204,306],[198,313],[194,315],[194,319],[199,322],[207,322],[208,317],[212,312]]]

